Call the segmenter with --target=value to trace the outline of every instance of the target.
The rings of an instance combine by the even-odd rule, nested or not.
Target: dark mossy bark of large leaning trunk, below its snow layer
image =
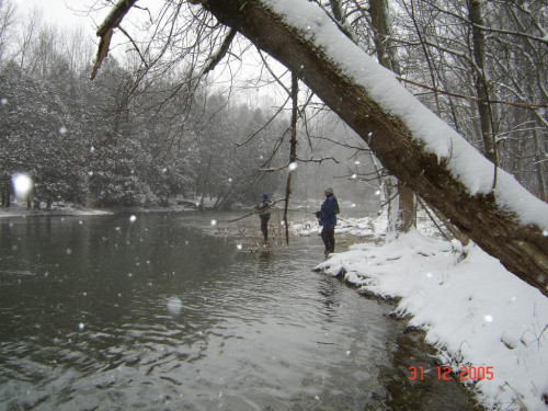
[[[509,271],[548,296],[548,237],[538,227],[521,225],[489,196],[470,195],[444,161],[438,162],[435,155],[413,140],[401,119],[384,111],[322,49],[263,1],[208,0],[204,7],[298,72],[300,80],[369,145],[391,174],[438,208]]]

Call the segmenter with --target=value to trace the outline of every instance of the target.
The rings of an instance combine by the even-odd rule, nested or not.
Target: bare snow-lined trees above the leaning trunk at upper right
[[[396,10],[404,13],[397,14],[392,42],[403,56],[403,80],[543,198],[547,121],[536,110],[547,103],[543,1],[411,0],[399,5]]]

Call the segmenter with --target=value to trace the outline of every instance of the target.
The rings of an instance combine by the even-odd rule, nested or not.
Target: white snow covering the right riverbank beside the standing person
[[[378,239],[384,217],[343,221],[335,238],[344,232]],[[296,225],[294,232],[318,233],[315,222]],[[548,298],[479,247],[413,230],[391,242],[352,246],[317,270],[343,274],[362,292],[401,298],[396,313],[425,331],[441,366],[486,376],[464,384],[487,408],[548,410]]]

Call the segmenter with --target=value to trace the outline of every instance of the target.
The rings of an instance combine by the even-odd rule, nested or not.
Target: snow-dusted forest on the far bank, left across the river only
[[[9,3],[0,5],[5,18]],[[267,141],[282,133],[276,121],[246,152],[237,150],[241,136],[263,125],[261,109],[228,105],[219,94],[206,99],[201,88],[193,112],[181,118],[176,101],[174,113],[165,105],[172,80],[129,100],[132,73],[115,58],[89,80],[94,45],[81,32],[64,33],[38,14],[18,22],[13,14],[13,35],[2,36],[0,54],[3,192],[24,172],[34,201],[46,206],[59,199],[155,206],[175,195],[207,195],[229,206],[250,187]]]

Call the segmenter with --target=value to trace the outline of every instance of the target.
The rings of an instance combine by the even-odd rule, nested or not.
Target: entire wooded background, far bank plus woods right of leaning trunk
[[[378,44],[366,2],[317,2],[375,55]],[[546,7],[483,2],[481,60],[475,56],[472,3],[392,2],[387,53],[398,56],[395,71],[425,105],[546,201],[547,117],[538,109],[548,102]],[[275,192],[282,186],[283,173],[259,170],[287,163],[287,111],[271,119],[274,111],[233,102],[206,82],[190,81],[184,64],[137,79],[142,59],[152,53],[111,57],[90,82],[94,45],[81,32],[67,33],[36,13],[18,16],[9,0],[0,0],[0,20],[2,192],[14,173],[26,172],[35,201],[46,206],[58,199],[152,206],[182,195],[207,196],[229,208],[256,199],[263,187]],[[488,104],[479,106],[487,105],[487,117],[475,100],[486,95]],[[310,196],[326,175],[362,183],[366,192],[381,186],[385,174],[373,167],[367,148],[341,138],[351,133],[330,121],[324,106],[304,100],[308,105],[301,112],[313,119],[299,128],[299,167],[307,171],[294,180],[294,194]],[[334,140],[345,146],[339,152],[344,165],[321,161],[321,171],[317,163],[306,165],[306,160],[331,157],[324,148]],[[265,180],[258,186],[260,179]]]

